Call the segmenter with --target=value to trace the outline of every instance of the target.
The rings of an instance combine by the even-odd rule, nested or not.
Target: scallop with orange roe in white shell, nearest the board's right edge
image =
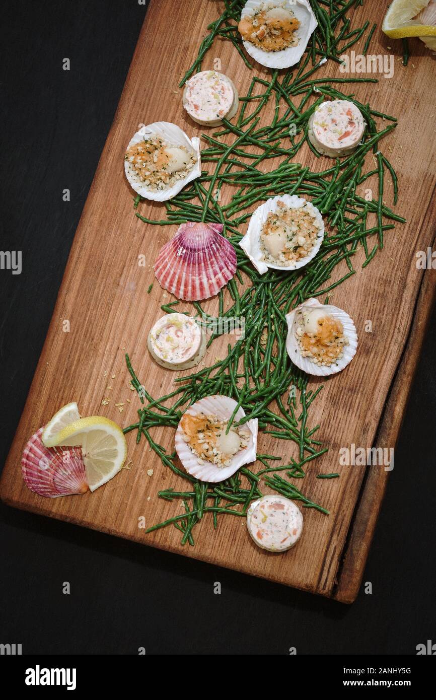
[[[318,330],[318,321],[325,319],[325,317],[332,319],[333,323],[335,321],[339,323],[339,328],[342,326],[343,337],[346,341],[342,345],[337,359],[330,364],[317,363],[314,361],[313,356],[312,358],[309,355],[303,356],[304,351],[299,339],[302,335],[308,333],[315,335]],[[329,374],[336,374],[341,372],[356,355],[358,346],[356,326],[346,311],[332,306],[332,304],[320,304],[314,298],[308,299],[293,309],[290,314],[287,314],[286,321],[288,322],[288,336],[286,337],[288,355],[294,365],[300,367],[300,370],[307,372],[307,374],[316,374],[323,377],[327,377]],[[328,326],[326,326],[326,330],[328,330]],[[333,332],[335,332],[335,326],[333,326]]]

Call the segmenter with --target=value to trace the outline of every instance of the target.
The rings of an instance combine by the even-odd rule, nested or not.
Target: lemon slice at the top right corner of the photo
[[[424,13],[423,17],[417,17],[428,3],[429,0],[393,0],[381,25],[382,31],[393,39],[406,36],[436,36],[435,25],[423,24],[423,21],[429,21],[431,16],[427,20],[424,19]]]

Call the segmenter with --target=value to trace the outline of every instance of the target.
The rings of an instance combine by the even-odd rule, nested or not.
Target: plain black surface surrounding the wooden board
[[[0,271],[2,465],[145,15],[136,0],[3,8],[0,248],[21,250],[23,269]],[[1,504],[0,642],[25,654],[415,654],[436,642],[435,321],[363,578],[372,595],[347,607]]]

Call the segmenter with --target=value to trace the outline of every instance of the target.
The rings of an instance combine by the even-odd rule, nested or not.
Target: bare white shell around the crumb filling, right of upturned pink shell
[[[292,209],[300,209],[300,207],[303,207],[304,204],[307,204],[307,208],[309,209],[310,213],[314,215],[316,222],[321,227],[316,236],[315,245],[311,249],[310,253],[306,255],[305,258],[300,258],[300,260],[297,260],[297,262],[292,262],[290,265],[272,265],[271,262],[264,262],[262,260],[260,232],[265,221],[267,221],[269,212],[276,211],[276,209],[279,208],[277,206],[277,202],[279,201],[284,202],[287,207]],[[272,197],[270,200],[267,200],[265,204],[262,204],[260,207],[258,207],[258,209],[253,211],[246,235],[243,239],[241,239],[241,241],[239,241],[239,245],[248,255],[251,262],[253,262],[253,265],[258,272],[260,272],[260,274],[265,274],[265,272],[268,272],[269,268],[290,271],[293,269],[298,269],[299,267],[304,267],[304,265],[307,265],[307,263],[315,257],[316,253],[318,253],[321,243],[323,242],[323,238],[324,222],[320,211],[316,209],[311,202],[304,200],[302,197],[297,197],[297,195],[280,195],[278,197]]]

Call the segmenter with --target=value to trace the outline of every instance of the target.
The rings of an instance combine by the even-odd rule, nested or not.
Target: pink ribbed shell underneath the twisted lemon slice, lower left
[[[88,485],[81,449],[45,447],[42,433],[39,428],[24,447],[21,472],[26,486],[47,498],[85,493]]]

